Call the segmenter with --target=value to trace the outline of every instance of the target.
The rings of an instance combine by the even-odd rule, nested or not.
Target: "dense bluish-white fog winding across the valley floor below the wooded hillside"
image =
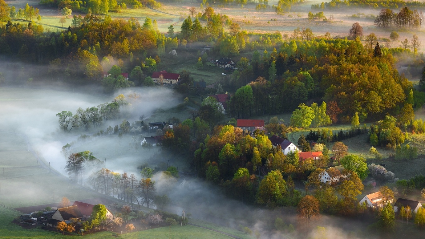
[[[125,92],[118,92],[127,95],[130,91],[140,94],[139,103],[133,103],[130,110],[124,112],[125,119],[130,123],[139,120],[139,116],[146,117],[157,108],[167,109],[176,106],[181,99],[173,91],[167,88],[134,88]],[[71,131],[64,134],[59,130],[58,117],[56,114],[61,111],[71,111],[75,113],[77,108],[88,108],[97,106],[104,102],[111,102],[114,97],[95,96],[82,93],[72,93],[67,91],[41,90],[30,88],[0,88],[0,131],[23,134],[30,142],[35,151],[40,152],[46,162],[51,162],[52,167],[65,174],[64,166],[66,158],[62,154],[62,146],[74,142],[73,151],[91,151],[94,156],[101,160],[107,159],[106,167],[115,172],[127,172],[135,174],[140,178],[138,166],[143,164],[156,165],[161,159],[155,162],[150,159],[153,151],[133,148],[132,143],[140,142],[139,138],[132,139],[131,136],[118,137],[95,137],[86,142],[79,142],[77,138],[81,134],[91,135],[100,129],[105,129],[111,125],[122,122],[124,117],[115,121],[108,121],[102,127],[85,132],[83,129]],[[181,119],[183,120],[183,119]],[[117,142],[118,140],[118,142]],[[172,158],[172,156],[170,156]],[[162,160],[164,161],[164,160]],[[187,167],[184,162],[178,159],[171,160],[172,165],[179,169]],[[198,179],[186,178],[185,183],[164,182],[160,173],[155,174],[156,187],[158,193],[167,194],[172,199],[172,206],[169,210],[181,215],[185,210],[193,218],[204,219],[221,225],[240,229],[249,227],[261,234],[261,238],[303,238],[296,233],[273,232],[270,230],[277,217],[283,219],[286,225],[292,224],[296,227],[297,217],[294,208],[282,208],[278,210],[267,210],[244,205],[243,203],[226,198],[218,188],[211,187]],[[355,235],[357,229],[365,228],[365,225],[357,221],[347,219],[334,219],[323,216],[317,225],[326,226],[327,238],[342,239],[347,238],[348,233]],[[312,232],[314,236],[315,230]],[[317,232],[320,233],[323,232]],[[350,237],[356,238],[356,237]]]

